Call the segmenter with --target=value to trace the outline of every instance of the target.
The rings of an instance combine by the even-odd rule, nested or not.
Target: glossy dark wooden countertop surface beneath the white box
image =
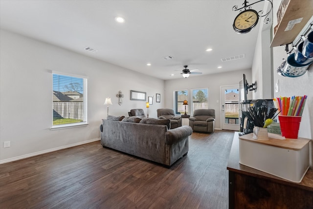
[[[271,174],[259,171],[257,169],[248,167],[246,165],[242,165],[239,163],[239,136],[238,132],[235,132],[233,143],[231,146],[227,170],[242,173],[245,175],[261,178],[261,179],[268,179],[270,181],[274,181],[280,184],[285,184],[289,186],[295,186],[302,189],[307,189],[313,191],[313,167],[310,166],[309,170],[307,171],[306,175],[303,177],[300,183],[294,183],[277,176],[273,176]]]

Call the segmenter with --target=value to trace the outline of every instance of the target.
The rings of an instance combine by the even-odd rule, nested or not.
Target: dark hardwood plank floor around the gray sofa
[[[99,141],[0,164],[0,209],[227,209],[233,135],[193,133],[170,168]]]

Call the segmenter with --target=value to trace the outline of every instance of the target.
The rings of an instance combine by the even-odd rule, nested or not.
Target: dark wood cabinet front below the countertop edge
[[[313,209],[313,191],[229,171],[230,209]]]

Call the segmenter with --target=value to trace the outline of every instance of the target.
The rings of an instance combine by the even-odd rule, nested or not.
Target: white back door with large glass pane
[[[222,129],[240,131],[238,91],[239,85],[221,87]]]

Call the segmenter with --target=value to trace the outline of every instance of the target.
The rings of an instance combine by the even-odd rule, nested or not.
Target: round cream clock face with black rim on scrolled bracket
[[[247,33],[258,23],[259,15],[253,9],[247,9],[237,15],[233,28],[237,33]]]

